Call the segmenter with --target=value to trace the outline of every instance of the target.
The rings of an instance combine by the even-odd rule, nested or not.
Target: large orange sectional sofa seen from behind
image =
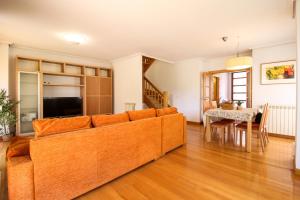
[[[33,126],[34,139],[13,141],[7,151],[10,200],[75,198],[186,141],[186,120],[176,108],[42,119]]]

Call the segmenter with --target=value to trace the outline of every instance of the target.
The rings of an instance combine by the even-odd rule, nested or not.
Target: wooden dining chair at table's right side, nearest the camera
[[[266,123],[266,119],[267,119],[267,114],[268,114],[268,104],[265,104],[264,108],[263,108],[263,114],[262,114],[260,123],[259,124],[252,123],[252,132],[255,132],[257,134],[257,138],[260,141],[261,149],[263,152],[264,152],[265,145],[266,145],[265,123]],[[247,134],[247,123],[246,122],[236,125],[236,128],[235,128],[235,137],[234,138],[236,140],[237,135],[239,134],[241,147],[242,147],[243,133],[245,133],[245,135]]]

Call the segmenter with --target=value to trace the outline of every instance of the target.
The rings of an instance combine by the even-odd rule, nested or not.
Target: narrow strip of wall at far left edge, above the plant
[[[8,44],[0,43],[0,89],[8,90]]]

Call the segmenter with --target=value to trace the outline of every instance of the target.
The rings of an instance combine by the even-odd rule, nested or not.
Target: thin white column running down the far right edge
[[[300,170],[300,0],[297,0],[297,128],[296,128],[296,169]]]

